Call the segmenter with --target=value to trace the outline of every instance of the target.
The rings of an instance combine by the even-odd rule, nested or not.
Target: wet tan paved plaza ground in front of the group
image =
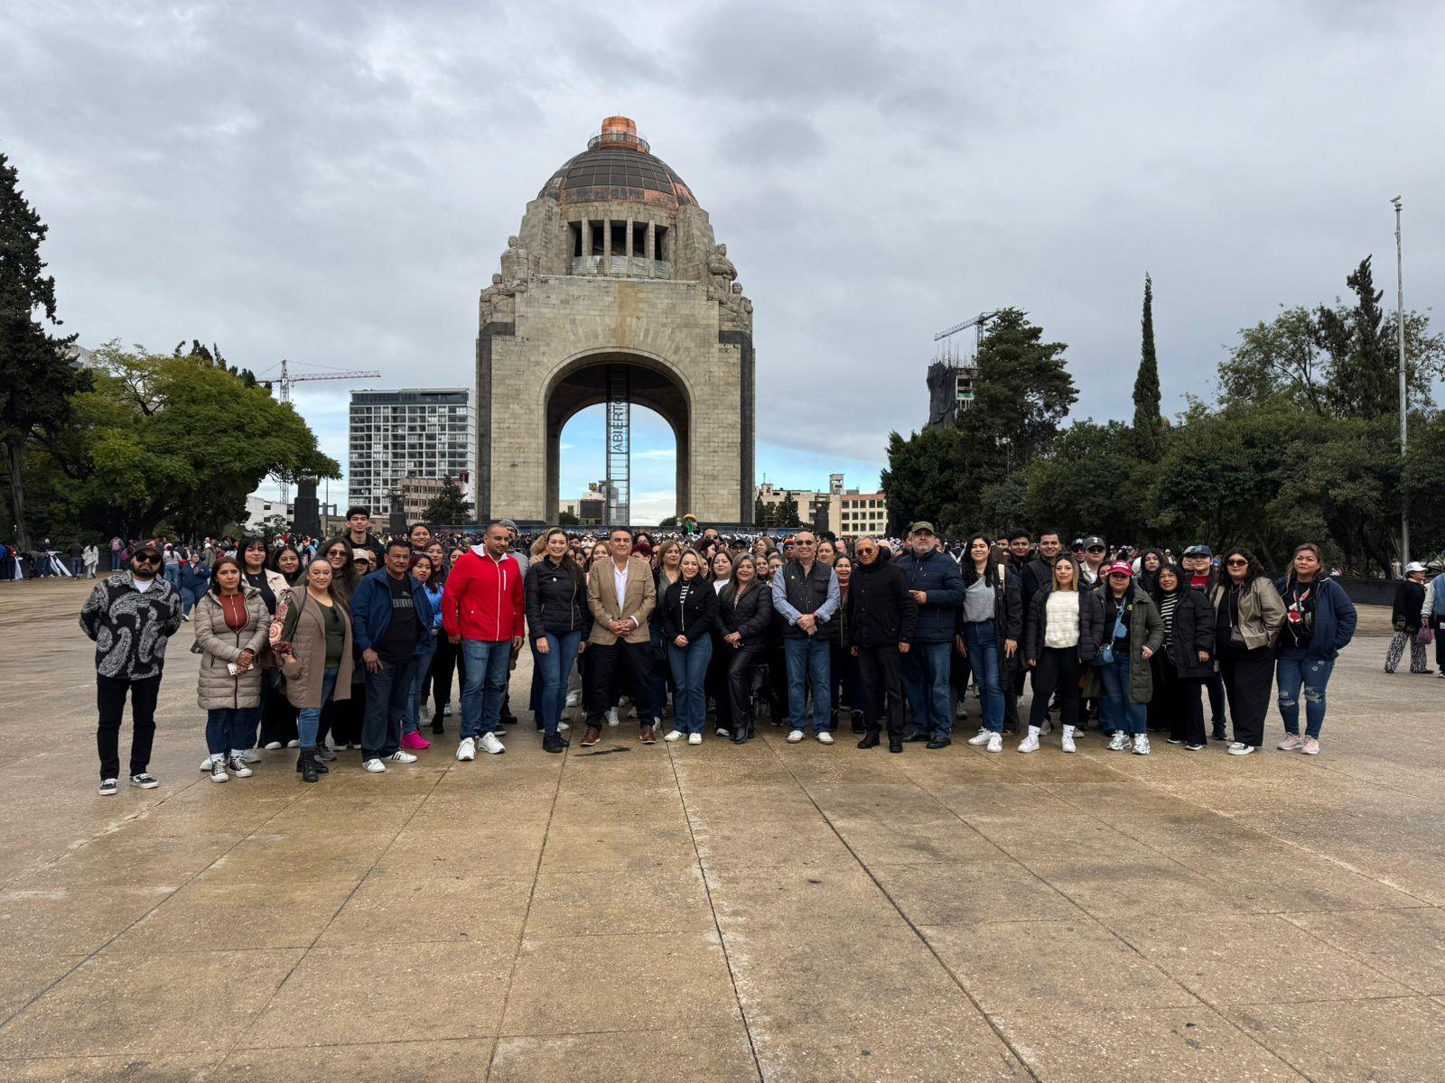
[[[6,1083],[1445,1079],[1445,680],[1381,611],[1318,758],[624,723],[316,786],[197,770],[186,625],[101,799],[88,586],[0,586]]]

